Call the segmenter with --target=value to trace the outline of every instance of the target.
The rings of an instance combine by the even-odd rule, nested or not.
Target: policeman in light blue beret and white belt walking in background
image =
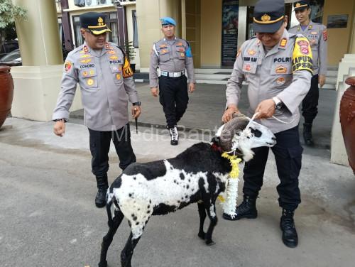
[[[158,97],[163,106],[170,144],[178,145],[178,129],[176,124],[187,109],[189,96],[187,94],[187,78],[189,77],[189,92],[195,90],[194,63],[192,50],[187,40],[175,37],[176,22],[173,18],[161,18],[164,38],[153,44],[151,64],[149,65],[149,80],[151,93]],[[158,78],[157,68],[160,68]],[[159,90],[158,90],[159,80]]]

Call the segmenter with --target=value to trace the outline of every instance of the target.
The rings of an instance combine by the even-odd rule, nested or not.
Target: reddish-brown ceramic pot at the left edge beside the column
[[[13,99],[13,80],[10,67],[0,66],[0,127],[11,110]]]

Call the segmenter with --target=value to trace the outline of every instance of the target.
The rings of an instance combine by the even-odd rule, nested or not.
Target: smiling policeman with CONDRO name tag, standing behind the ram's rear
[[[109,147],[111,139],[119,156],[119,167],[124,170],[136,161],[129,131],[128,100],[133,104],[133,118],[141,114],[133,72],[123,50],[108,43],[109,28],[102,13],[84,13],[80,16],[84,44],[72,50],[65,60],[61,91],[53,113],[54,133],[65,133],[65,122],[80,85],[84,124],[89,129],[92,173],[97,180],[95,204],[104,207],[109,186]]]

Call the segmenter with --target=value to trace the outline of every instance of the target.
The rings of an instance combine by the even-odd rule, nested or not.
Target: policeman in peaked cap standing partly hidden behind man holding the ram
[[[290,33],[302,34],[310,41],[313,55],[313,77],[311,81],[310,91],[306,94],[302,101],[302,116],[305,118],[303,124],[303,138],[307,146],[313,146],[312,123],[318,113],[318,99],[320,95],[320,87],[325,83],[327,75],[327,27],[315,23],[310,20],[310,1],[296,1],[295,15],[300,22],[299,25],[290,28]]]

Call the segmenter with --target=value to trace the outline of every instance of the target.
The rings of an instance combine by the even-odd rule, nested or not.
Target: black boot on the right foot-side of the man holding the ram
[[[283,231],[283,244],[289,248],[295,248],[298,244],[298,236],[293,220],[293,210],[283,209],[280,219],[280,228]]]

